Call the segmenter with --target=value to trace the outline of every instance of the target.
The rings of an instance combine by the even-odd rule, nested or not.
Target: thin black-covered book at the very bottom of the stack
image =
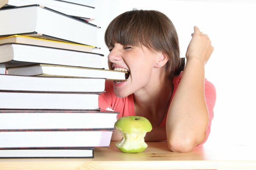
[[[94,148],[0,149],[0,158],[94,158]]]

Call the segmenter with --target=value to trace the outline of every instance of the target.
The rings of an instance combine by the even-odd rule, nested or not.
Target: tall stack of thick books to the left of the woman
[[[87,16],[49,8],[67,2],[23,3],[0,2],[0,157],[93,158],[109,146],[118,114],[100,109],[99,95],[127,72],[102,68],[99,27]]]

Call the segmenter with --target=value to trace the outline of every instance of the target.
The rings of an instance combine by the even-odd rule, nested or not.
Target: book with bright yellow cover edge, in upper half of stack
[[[47,40],[47,39],[28,37],[23,35],[11,35],[7,37],[0,37],[0,44],[7,44],[7,43],[39,45],[44,47],[61,48],[61,49],[84,51],[84,52],[93,52],[93,49],[96,49],[96,47],[90,46],[90,45]]]

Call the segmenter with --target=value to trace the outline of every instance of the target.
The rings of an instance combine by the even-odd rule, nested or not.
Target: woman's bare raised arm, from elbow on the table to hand
[[[170,150],[189,152],[206,137],[208,110],[204,97],[204,65],[212,54],[209,37],[194,27],[182,79],[169,108],[166,135]]]

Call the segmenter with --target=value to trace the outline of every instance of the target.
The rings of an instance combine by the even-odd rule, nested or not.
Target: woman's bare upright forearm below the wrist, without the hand
[[[180,147],[187,147],[187,151],[191,150],[205,139],[207,125],[204,62],[194,57],[187,60],[169,108],[166,122],[169,147],[180,145]]]

